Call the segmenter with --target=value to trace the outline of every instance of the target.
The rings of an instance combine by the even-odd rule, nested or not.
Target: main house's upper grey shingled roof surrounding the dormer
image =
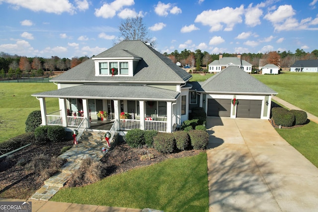
[[[135,57],[141,58],[141,60],[134,70],[134,76],[95,76],[94,61],[88,59],[69,71],[53,78],[51,81],[184,83],[192,77],[190,73],[175,65],[169,58],[140,40],[122,41],[94,58],[112,57]]]

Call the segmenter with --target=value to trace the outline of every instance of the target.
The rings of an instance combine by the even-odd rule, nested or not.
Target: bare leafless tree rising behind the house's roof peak
[[[143,22],[143,17],[128,17],[121,22],[119,26],[120,38],[114,40],[114,44],[117,44],[123,40],[141,40],[146,43],[151,43],[155,47],[156,41],[149,36],[146,25]]]

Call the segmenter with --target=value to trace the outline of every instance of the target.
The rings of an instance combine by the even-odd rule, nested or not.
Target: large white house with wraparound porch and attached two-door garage
[[[32,96],[40,101],[42,125],[70,132],[89,129],[98,111],[109,114],[116,131],[170,133],[198,106],[208,116],[269,119],[275,91],[240,68],[229,66],[204,83],[190,83],[191,77],[142,41],[123,41],[53,78],[57,90]],[[46,98],[58,98],[60,110],[48,113]],[[237,106],[231,104],[234,98]],[[227,112],[220,112],[223,107]],[[81,116],[75,116],[79,111]],[[121,112],[130,117],[121,119]]]

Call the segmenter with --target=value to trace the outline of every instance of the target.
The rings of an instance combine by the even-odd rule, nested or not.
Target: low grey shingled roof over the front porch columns
[[[34,93],[35,97],[51,98],[105,98],[175,101],[180,92],[148,85],[78,85],[58,90]]]

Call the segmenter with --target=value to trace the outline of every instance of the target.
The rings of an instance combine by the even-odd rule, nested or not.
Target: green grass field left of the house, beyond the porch
[[[40,102],[33,93],[56,90],[53,83],[0,83],[0,142],[25,133],[25,120]],[[46,98],[48,112],[58,110],[57,98]]]

